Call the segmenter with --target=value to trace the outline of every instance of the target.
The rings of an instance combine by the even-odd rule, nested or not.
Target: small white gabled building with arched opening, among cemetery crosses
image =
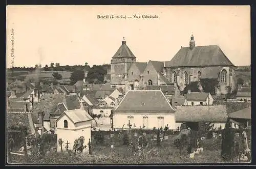
[[[63,114],[56,120],[57,140],[62,140],[62,150],[73,150],[74,141],[80,136],[84,137],[84,145],[87,146],[91,139],[91,121],[93,118],[83,108],[65,110]],[[57,143],[57,151],[61,151],[61,146]],[[84,150],[88,152],[88,146]]]

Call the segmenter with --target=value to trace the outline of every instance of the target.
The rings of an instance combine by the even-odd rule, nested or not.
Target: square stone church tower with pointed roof
[[[125,90],[127,72],[134,62],[136,62],[136,57],[131,49],[126,45],[126,41],[123,37],[122,45],[116,51],[111,60],[111,87],[115,87],[117,89],[122,88]]]

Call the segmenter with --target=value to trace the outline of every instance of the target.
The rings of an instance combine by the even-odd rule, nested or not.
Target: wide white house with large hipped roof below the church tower
[[[147,129],[168,124],[175,129],[175,109],[161,90],[130,90],[113,111],[115,129],[128,129],[129,123]]]

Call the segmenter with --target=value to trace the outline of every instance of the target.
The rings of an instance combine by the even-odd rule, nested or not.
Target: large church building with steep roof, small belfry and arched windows
[[[181,47],[173,59],[164,63],[164,74],[170,82],[175,82],[183,91],[191,81],[213,79],[218,81],[214,89],[217,95],[225,95],[228,87],[236,88],[234,65],[218,45],[196,46],[194,36],[189,47]]]

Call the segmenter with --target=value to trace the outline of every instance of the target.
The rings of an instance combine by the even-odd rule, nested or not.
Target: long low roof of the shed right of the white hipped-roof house
[[[176,122],[226,122],[225,105],[177,106]]]

